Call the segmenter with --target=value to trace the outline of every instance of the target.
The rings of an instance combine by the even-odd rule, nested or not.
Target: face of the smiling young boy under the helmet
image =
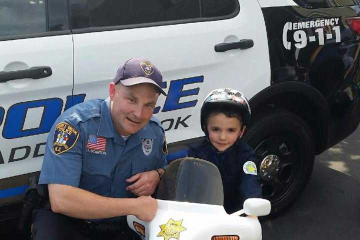
[[[210,114],[207,118],[209,140],[218,151],[229,148],[242,133],[242,122],[223,113]]]

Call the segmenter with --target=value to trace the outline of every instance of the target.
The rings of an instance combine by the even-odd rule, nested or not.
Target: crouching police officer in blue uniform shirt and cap
[[[56,119],[38,182],[47,184],[49,203],[33,212],[34,239],[93,239],[101,227],[111,239],[127,239],[124,215],[154,217],[150,195],[167,154],[152,116],[159,94],[166,95],[161,82],[150,61],[131,58],[118,68],[107,99],[79,103]]]

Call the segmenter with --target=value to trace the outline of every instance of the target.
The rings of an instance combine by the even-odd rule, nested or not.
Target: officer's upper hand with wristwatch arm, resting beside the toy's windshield
[[[126,179],[126,182],[133,182],[126,187],[126,190],[137,196],[149,196],[155,191],[157,184],[160,182],[160,177],[155,170],[144,171]]]

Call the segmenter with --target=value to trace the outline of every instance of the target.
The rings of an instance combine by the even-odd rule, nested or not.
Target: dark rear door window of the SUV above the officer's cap
[[[72,0],[71,26],[118,26],[216,17],[231,14],[235,9],[234,0]]]

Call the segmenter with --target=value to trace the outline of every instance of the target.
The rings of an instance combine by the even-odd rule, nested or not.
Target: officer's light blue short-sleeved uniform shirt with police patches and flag
[[[125,179],[166,168],[164,130],[151,117],[127,141],[115,130],[110,99],[88,100],[69,108],[47,138],[39,184],[79,187],[108,197],[135,197]]]

